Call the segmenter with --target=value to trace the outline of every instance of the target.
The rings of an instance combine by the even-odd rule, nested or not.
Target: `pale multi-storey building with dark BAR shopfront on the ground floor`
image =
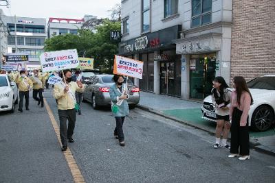
[[[203,99],[230,82],[232,0],[122,0],[120,55],[144,62],[141,90]]]

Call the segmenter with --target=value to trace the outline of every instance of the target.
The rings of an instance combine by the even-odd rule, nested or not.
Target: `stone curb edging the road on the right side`
[[[164,117],[166,119],[177,121],[178,123],[181,123],[181,124],[184,124],[184,125],[188,125],[190,127],[195,127],[195,129],[203,130],[204,132],[208,132],[211,135],[215,134],[214,132],[208,130],[206,127],[203,127],[203,126],[200,126],[200,125],[195,125],[194,123],[191,123],[190,121],[184,121],[184,120],[177,119],[175,117],[170,117],[170,116],[168,116],[166,114],[163,114],[162,112],[160,112],[158,110],[154,110],[153,108],[148,108],[148,107],[142,106],[140,104],[137,104],[136,107],[140,108],[141,110],[146,110],[146,111],[151,112],[153,114],[157,114],[160,117]],[[228,137],[228,140],[231,140],[231,138]],[[260,143],[258,143],[256,141],[250,141],[250,149],[255,149],[256,151],[259,151],[261,153],[268,154],[270,156],[275,156],[275,151],[272,151],[272,150],[270,150],[268,148],[265,148],[263,145],[261,145]]]

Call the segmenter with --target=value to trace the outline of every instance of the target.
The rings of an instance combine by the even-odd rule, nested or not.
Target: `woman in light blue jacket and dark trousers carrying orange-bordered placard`
[[[120,145],[125,146],[122,127],[125,117],[129,114],[129,106],[126,101],[126,99],[129,98],[129,95],[127,85],[123,84],[124,77],[122,75],[114,75],[113,81],[115,84],[110,87],[111,109],[116,121],[116,127],[113,134],[115,138],[120,141]]]

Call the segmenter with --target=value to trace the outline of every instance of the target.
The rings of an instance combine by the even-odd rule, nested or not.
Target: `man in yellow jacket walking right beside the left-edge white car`
[[[29,93],[30,90],[32,89],[32,80],[30,80],[30,78],[28,78],[25,75],[25,71],[20,71],[20,75],[17,75],[17,78],[15,80],[15,82],[18,84],[19,87],[19,111],[23,112],[23,99],[25,97],[25,108],[26,110],[30,110],[29,109]]]

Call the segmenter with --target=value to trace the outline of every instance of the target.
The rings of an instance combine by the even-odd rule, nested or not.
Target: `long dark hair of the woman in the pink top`
[[[233,82],[236,88],[236,102],[239,104],[239,106],[241,105],[241,95],[243,94],[243,92],[249,93],[251,97],[250,105],[252,105],[253,98],[250,93],[250,90],[248,89],[248,85],[245,82],[245,78],[243,78],[242,76],[236,76],[234,77]]]

